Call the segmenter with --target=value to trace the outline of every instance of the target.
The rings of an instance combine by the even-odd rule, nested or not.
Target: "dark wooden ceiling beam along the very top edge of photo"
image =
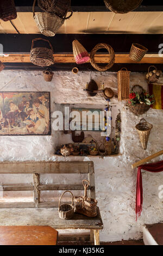
[[[16,9],[18,12],[32,12],[34,0],[15,0]],[[152,3],[150,3],[152,2]],[[106,9],[103,0],[72,0],[71,7],[73,11],[89,12],[89,11],[110,11]],[[39,7],[35,7],[35,11],[42,11]],[[143,0],[141,5],[134,11],[163,11],[161,0],[148,1]]]

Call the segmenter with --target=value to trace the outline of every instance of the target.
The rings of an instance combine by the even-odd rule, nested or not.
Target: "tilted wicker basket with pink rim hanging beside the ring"
[[[88,52],[86,51],[84,46],[80,44],[78,40],[73,40],[72,48],[73,56],[77,64],[82,64],[90,60]]]

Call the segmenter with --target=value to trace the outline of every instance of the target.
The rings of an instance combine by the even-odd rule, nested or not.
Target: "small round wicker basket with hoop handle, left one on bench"
[[[62,196],[64,196],[64,194],[66,192],[71,193],[72,203],[71,203],[71,205],[70,204],[62,204],[62,205],[60,205],[61,198],[62,198]],[[73,194],[72,194],[71,191],[66,190],[64,193],[61,194],[61,197],[59,199],[58,212],[59,212],[59,217],[63,218],[64,220],[70,220],[73,217],[74,206],[73,206]]]

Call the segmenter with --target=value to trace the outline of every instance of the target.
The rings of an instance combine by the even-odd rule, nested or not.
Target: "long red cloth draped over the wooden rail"
[[[142,203],[143,203],[143,188],[142,188],[141,169],[147,170],[148,172],[152,172],[152,173],[163,172],[163,161],[156,162],[156,163],[143,164],[142,166],[139,166],[137,168],[136,206],[135,206],[136,221],[137,221],[137,217],[139,217],[141,215]]]

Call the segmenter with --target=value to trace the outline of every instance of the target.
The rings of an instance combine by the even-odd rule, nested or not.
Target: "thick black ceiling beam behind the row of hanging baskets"
[[[127,54],[131,44],[137,42],[148,48],[148,54],[158,54],[159,44],[163,42],[163,34],[57,34],[47,38],[40,34],[0,34],[3,52],[9,54],[29,54],[34,38],[48,39],[54,53],[72,53],[72,41],[79,40],[88,52],[99,42],[106,42],[114,48],[116,54]],[[46,44],[46,45],[45,45]],[[37,41],[35,46],[47,46],[44,41]],[[106,53],[106,50],[98,51]]]

